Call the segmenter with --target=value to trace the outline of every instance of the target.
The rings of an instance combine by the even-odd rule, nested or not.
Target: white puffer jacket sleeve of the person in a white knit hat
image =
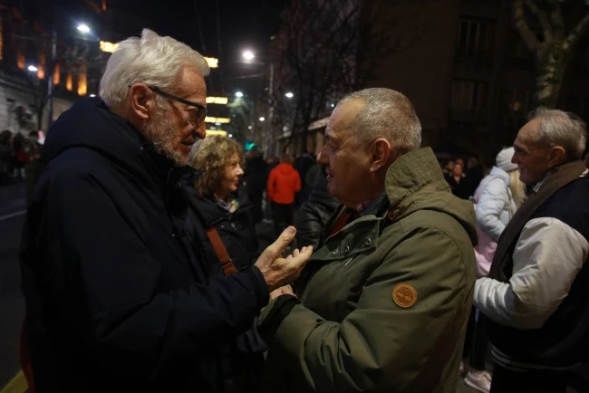
[[[477,224],[495,242],[499,240],[506,226],[500,219],[506,205],[506,195],[507,185],[497,177],[488,181],[478,198]]]

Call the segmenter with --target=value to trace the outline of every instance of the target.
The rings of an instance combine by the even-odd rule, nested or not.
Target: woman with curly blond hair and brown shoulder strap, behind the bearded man
[[[241,145],[222,136],[210,136],[198,142],[189,165],[202,173],[195,183],[196,192],[188,193],[193,212],[206,228],[206,233],[188,234],[195,238],[198,254],[208,277],[230,275],[256,263],[257,239],[253,206],[246,197],[242,176],[244,151]],[[199,225],[187,225],[197,228]],[[231,359],[228,369],[235,370],[233,384],[227,392],[256,391],[264,365],[266,344],[255,329],[246,331],[227,346],[224,358]]]

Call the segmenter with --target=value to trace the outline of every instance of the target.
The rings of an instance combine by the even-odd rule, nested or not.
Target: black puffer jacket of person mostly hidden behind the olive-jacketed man
[[[309,199],[296,216],[296,244],[299,247],[313,245],[317,249],[323,236],[323,228],[340,203],[327,192],[327,175],[322,169],[317,175]]]

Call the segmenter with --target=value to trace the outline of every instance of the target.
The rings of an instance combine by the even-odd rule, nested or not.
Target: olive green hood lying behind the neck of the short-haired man
[[[438,211],[457,220],[473,246],[478,243],[477,218],[472,203],[452,195],[430,148],[398,158],[387,170],[384,187],[391,210],[397,211],[398,217],[409,216],[418,210]]]

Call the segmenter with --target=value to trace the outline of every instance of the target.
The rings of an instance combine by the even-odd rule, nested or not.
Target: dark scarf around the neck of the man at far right
[[[517,209],[516,214],[499,237],[489,277],[503,283],[509,281],[513,273],[512,255],[524,226],[549,197],[552,197],[556,191],[579,178],[586,169],[583,161],[569,162],[549,172],[541,185],[534,188],[535,192],[528,196],[526,202]]]

